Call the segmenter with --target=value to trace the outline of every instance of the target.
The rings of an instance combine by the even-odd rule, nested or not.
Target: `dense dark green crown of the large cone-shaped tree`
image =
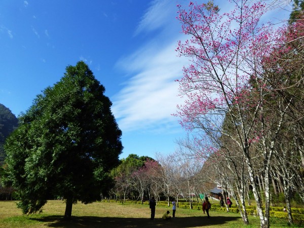
[[[91,203],[110,186],[122,132],[103,93],[81,61],[21,115],[5,150],[6,182],[17,189],[23,213],[39,211],[50,196]]]

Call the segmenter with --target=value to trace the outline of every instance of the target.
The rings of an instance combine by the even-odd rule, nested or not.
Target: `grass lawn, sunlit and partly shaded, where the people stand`
[[[176,209],[176,218],[163,221],[162,215],[171,207],[157,207],[155,220],[150,220],[147,205],[96,202],[73,205],[72,219],[63,220],[65,203],[48,201],[43,213],[22,215],[14,201],[0,201],[0,227],[259,227],[259,219],[250,216],[250,225],[244,226],[242,218],[236,213],[210,211],[208,219],[203,211]],[[290,227],[287,221],[271,218],[271,227]],[[298,227],[298,226],[293,226]]]

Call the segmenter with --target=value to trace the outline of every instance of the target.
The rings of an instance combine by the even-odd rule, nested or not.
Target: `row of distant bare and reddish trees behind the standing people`
[[[138,156],[130,155],[135,159]],[[183,198],[192,207],[194,200],[200,201],[199,195],[208,192],[201,175],[202,163],[188,158],[186,154],[177,153],[168,156],[157,155],[157,161],[145,157],[139,166],[123,159],[121,165],[112,171],[115,186],[111,194],[123,202],[128,199],[140,200],[142,203],[155,196],[157,200],[166,199],[168,206],[172,198]]]

